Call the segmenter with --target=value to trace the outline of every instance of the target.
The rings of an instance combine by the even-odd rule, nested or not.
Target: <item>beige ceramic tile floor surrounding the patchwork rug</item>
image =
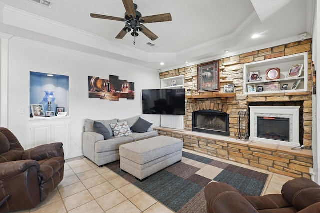
[[[190,150],[183,151],[196,153]],[[280,193],[291,177],[217,157],[208,158],[268,173],[263,194]],[[202,168],[206,164],[182,158],[182,162]],[[201,174],[207,176],[206,174]],[[208,174],[212,175],[212,173]],[[98,167],[84,156],[67,159],[64,178],[57,189],[37,207],[12,213],[174,213],[107,167]]]

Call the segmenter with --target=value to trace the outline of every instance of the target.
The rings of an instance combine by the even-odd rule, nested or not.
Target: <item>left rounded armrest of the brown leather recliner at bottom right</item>
[[[258,213],[231,185],[211,182],[204,188],[207,213]]]

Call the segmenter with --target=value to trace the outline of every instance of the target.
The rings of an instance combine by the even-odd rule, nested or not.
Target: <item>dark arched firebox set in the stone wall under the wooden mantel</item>
[[[199,110],[192,113],[192,130],[229,136],[229,115],[216,110]]]

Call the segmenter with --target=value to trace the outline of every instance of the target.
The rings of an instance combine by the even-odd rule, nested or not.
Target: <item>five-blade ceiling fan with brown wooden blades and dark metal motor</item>
[[[122,2],[126,10],[124,14],[124,18],[118,18],[113,16],[107,16],[107,15],[99,15],[94,13],[90,14],[92,18],[102,18],[102,19],[125,22],[124,28],[119,32],[119,34],[115,38],[122,39],[126,35],[126,33],[130,32],[132,29],[133,31],[131,32],[131,35],[133,37],[138,36],[139,35],[138,32],[142,32],[153,41],[157,39],[158,36],[156,36],[153,32],[151,32],[148,28],[146,28],[141,23],[154,23],[154,22],[163,22],[163,21],[172,20],[170,13],[142,17],[141,13],[136,10],[138,6],[135,3],[133,3],[133,0],[122,0]],[[135,44],[135,42],[133,43]]]

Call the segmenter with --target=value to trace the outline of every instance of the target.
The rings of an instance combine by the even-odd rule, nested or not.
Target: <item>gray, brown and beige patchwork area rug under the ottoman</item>
[[[106,167],[177,213],[206,213],[204,187],[212,180],[230,184],[242,195],[261,195],[268,178],[268,174],[193,153],[183,151],[182,156],[182,162],[143,181],[121,171],[119,161],[109,163]],[[200,166],[192,166],[187,162],[192,162],[192,165],[198,162]]]

